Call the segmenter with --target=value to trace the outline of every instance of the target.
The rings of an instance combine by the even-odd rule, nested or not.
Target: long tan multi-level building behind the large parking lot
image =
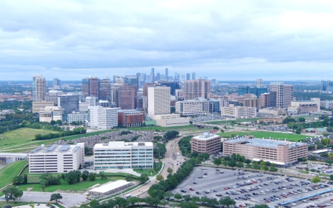
[[[307,144],[273,139],[241,137],[223,141],[223,155],[239,154],[254,161],[264,160],[281,166],[298,162],[298,158],[307,158]]]

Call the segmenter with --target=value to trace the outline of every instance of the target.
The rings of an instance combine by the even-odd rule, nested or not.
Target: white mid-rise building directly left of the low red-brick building
[[[89,127],[110,129],[118,126],[117,107],[89,106]]]

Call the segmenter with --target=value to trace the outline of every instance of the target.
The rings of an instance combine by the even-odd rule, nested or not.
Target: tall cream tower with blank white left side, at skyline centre
[[[170,114],[170,87],[148,87],[148,115]]]

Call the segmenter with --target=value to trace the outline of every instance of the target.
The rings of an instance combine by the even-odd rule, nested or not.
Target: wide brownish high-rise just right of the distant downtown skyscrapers
[[[210,80],[185,80],[184,98],[194,100],[195,98],[207,98],[210,93]]]

